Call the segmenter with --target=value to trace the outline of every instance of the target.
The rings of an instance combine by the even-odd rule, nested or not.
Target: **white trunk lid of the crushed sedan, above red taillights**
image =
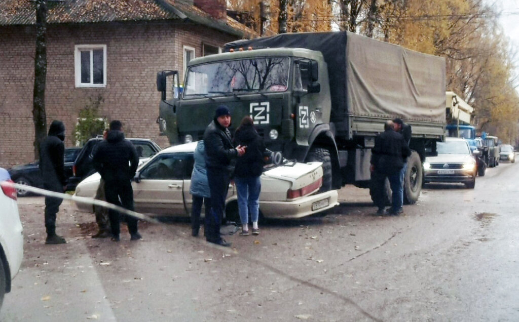
[[[315,182],[323,176],[322,162],[294,163],[291,165],[280,165],[274,169],[267,170],[264,176],[290,181],[293,190],[301,189]]]

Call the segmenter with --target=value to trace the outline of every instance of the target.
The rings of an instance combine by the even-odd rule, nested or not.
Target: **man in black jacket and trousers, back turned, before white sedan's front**
[[[98,145],[99,147],[93,156],[93,165],[104,180],[106,201],[119,204],[120,199],[122,207],[133,211],[131,180],[139,165],[139,157],[133,144],[125,139],[125,135],[122,133],[122,123],[118,120],[110,122],[110,132],[108,132],[106,140],[98,143]],[[118,242],[120,214],[110,209],[108,217],[110,218],[112,240]],[[126,222],[131,236],[130,239],[132,241],[142,239],[138,232],[137,219],[128,216]]]

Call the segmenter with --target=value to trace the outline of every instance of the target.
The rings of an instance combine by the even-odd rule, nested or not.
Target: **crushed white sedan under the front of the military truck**
[[[189,186],[196,145],[193,142],[166,148],[139,167],[132,183],[136,212],[190,215]],[[322,185],[322,176],[321,162],[294,162],[265,171],[261,176],[260,215],[300,218],[338,205],[336,190],[316,193]],[[77,185],[75,195],[94,198],[99,179],[98,173],[85,178]],[[227,219],[239,221],[234,186],[229,186],[226,204]],[[91,204],[76,201],[76,205],[82,211],[93,212]]]

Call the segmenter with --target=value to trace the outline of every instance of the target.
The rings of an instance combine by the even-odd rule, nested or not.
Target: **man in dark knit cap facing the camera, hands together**
[[[211,214],[206,216],[206,240],[210,243],[230,246],[220,235],[225,199],[229,189],[232,171],[231,160],[245,153],[242,146],[233,146],[230,132],[230,111],[227,106],[219,106],[214,118],[203,133],[206,147],[206,166],[209,190],[211,192]]]

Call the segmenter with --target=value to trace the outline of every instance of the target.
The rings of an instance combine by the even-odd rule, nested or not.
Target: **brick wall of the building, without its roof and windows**
[[[34,160],[32,96],[35,35],[31,26],[0,27],[0,166]],[[47,40],[47,124],[65,123],[65,146],[72,146],[72,131],[79,110],[90,99],[102,97],[101,115],[119,119],[127,136],[159,136],[160,93],[155,77],[162,69],[183,68],[183,46],[202,55],[202,43],[223,46],[236,37],[208,27],[179,22],[50,25]],[[105,88],[75,88],[74,46],[107,46]],[[181,73],[183,75],[183,73]],[[181,80],[182,81],[182,80]]]

